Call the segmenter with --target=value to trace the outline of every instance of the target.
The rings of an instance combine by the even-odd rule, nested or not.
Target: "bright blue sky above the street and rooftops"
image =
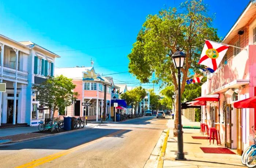
[[[127,72],[132,44],[148,14],[177,7],[184,0],[0,0],[0,34],[32,41],[61,58],[56,67],[90,66],[97,73]],[[205,0],[220,37],[236,22],[249,0]],[[84,49],[84,50],[79,50]],[[129,73],[112,75],[116,83],[139,85]],[[137,80],[138,81],[138,80]],[[145,88],[152,84],[142,84]],[[158,91],[159,85],[155,86]]]

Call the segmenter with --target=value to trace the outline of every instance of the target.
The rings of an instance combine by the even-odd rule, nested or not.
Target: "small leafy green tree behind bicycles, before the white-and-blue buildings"
[[[54,113],[72,104],[72,100],[78,95],[73,92],[76,85],[72,83],[72,79],[60,75],[56,77],[48,77],[41,85],[35,85],[35,89],[39,94],[37,100],[41,106],[48,107],[51,111],[52,119]],[[53,113],[52,113],[53,112]]]

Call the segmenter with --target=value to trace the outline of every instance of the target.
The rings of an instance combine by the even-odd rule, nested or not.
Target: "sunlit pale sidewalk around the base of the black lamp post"
[[[206,168],[206,167],[244,167],[241,164],[241,156],[237,155],[236,150],[232,152],[236,154],[215,154],[215,153],[204,153],[200,147],[207,148],[225,148],[224,144],[218,145],[216,141],[210,145],[209,140],[206,139],[193,139],[192,136],[203,137],[200,134],[199,129],[183,129],[183,144],[186,161],[175,160],[177,149],[177,137],[173,137],[174,120],[169,121],[169,140],[167,141],[167,147],[165,151],[165,157],[163,161],[163,167],[189,167],[189,168]],[[184,116],[182,116],[182,125],[200,126],[199,122],[190,122]],[[207,135],[204,135],[207,137]]]

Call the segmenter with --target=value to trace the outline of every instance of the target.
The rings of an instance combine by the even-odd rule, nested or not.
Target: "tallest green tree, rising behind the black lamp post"
[[[175,106],[178,114],[177,69],[172,62],[172,55],[177,50],[187,57],[181,69],[181,93],[184,91],[188,70],[197,64],[204,39],[218,41],[217,30],[212,27],[212,15],[202,0],[188,0],[180,8],[162,10],[158,15],[148,15],[132,52],[128,55],[129,72],[142,83],[147,83],[153,73],[155,79],[165,85],[173,85],[176,95]],[[177,130],[178,115],[175,117]],[[176,134],[176,132],[174,131]]]

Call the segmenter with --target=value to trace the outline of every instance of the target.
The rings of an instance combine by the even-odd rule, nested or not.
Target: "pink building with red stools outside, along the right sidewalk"
[[[256,121],[254,109],[233,106],[237,100],[256,95],[255,14],[255,1],[250,1],[222,41],[241,49],[230,46],[219,68],[208,73],[207,82],[202,85],[202,96],[220,94],[219,102],[207,102],[206,110],[203,106],[203,121],[209,127],[211,123],[217,127],[221,142],[227,148],[237,149],[238,154],[249,145],[248,136]]]

